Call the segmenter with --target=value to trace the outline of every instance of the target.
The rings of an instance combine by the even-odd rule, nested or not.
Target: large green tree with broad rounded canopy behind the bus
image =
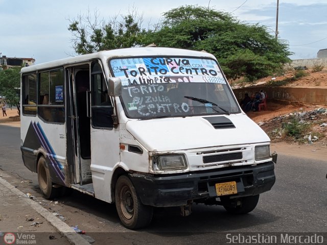
[[[240,22],[227,13],[188,5],[164,13],[163,19],[160,30],[147,33],[145,43],[212,53],[231,80],[265,77],[290,61],[285,40],[276,40],[265,26]]]

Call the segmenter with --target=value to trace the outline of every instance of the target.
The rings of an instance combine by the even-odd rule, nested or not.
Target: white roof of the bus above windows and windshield
[[[37,65],[31,65],[21,68],[21,73],[31,72],[35,70],[49,69],[52,67],[58,67],[63,65],[69,65],[74,63],[86,62],[91,59],[107,60],[114,57],[135,57],[135,56],[197,56],[203,58],[214,58],[212,54],[200,51],[183,50],[180,48],[170,47],[132,47],[121,48],[118,50],[100,51],[97,53],[80,55],[75,57],[68,57],[56,61],[41,63]]]

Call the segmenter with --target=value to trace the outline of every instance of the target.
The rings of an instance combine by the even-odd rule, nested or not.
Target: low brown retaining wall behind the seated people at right
[[[304,87],[250,87],[233,89],[238,101],[244,98],[244,94],[255,94],[263,89],[267,95],[267,100],[297,101],[319,105],[327,105],[326,88],[304,88]]]

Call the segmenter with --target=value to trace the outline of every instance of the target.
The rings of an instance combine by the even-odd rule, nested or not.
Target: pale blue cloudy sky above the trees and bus
[[[240,21],[259,23],[275,36],[277,0],[0,0],[0,55],[34,58],[43,63],[76,55],[69,19],[98,11],[108,20],[126,15],[134,6],[143,15],[144,28],[156,23],[162,13],[184,5],[211,7],[230,13]],[[279,0],[278,38],[289,43],[291,59],[316,58],[327,48],[326,0]]]

